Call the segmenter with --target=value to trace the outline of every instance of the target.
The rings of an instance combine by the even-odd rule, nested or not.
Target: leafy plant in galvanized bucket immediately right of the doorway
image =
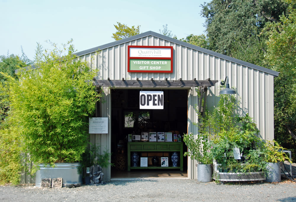
[[[212,181],[213,156],[208,141],[202,134],[198,134],[194,139],[192,133],[185,134],[183,141],[189,149],[184,153],[184,156],[190,156],[192,160],[197,160],[197,180],[200,182]]]

